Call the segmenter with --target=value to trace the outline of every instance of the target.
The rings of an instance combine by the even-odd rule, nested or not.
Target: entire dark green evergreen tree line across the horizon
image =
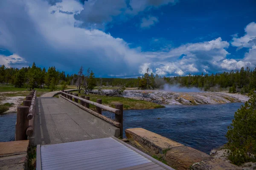
[[[81,68],[80,68],[81,69]],[[83,68],[82,68],[83,69]],[[15,87],[26,88],[54,88],[55,85],[62,85],[63,88],[66,85],[81,85],[84,84],[84,80],[88,81],[89,77],[93,85],[102,86],[122,86],[125,84],[127,88],[139,88],[139,89],[161,89],[163,85],[168,83],[170,85],[178,85],[180,87],[187,88],[200,88],[204,91],[209,91],[212,88],[229,89],[230,93],[248,93],[250,90],[256,88],[256,68],[250,70],[250,68],[242,67],[240,70],[216,73],[216,74],[199,74],[177,77],[161,77],[153,73],[149,73],[149,68],[146,73],[135,78],[121,79],[121,78],[95,78],[93,71],[87,70],[84,75],[83,70],[79,70],[78,74],[65,74],[64,71],[57,70],[54,66],[46,68],[40,68],[32,64],[32,67],[23,68],[6,68],[5,65],[0,67],[0,83],[12,84]],[[87,82],[87,85],[88,82]],[[90,85],[89,85],[90,88]]]

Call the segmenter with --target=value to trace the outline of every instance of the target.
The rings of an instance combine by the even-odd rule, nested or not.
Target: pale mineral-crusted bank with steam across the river
[[[162,105],[220,104],[246,102],[249,99],[248,96],[242,94],[220,92],[171,92],[160,90],[125,90],[123,96]]]

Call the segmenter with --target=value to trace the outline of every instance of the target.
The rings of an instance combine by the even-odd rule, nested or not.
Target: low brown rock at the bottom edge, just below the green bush
[[[193,170],[243,170],[229,162],[223,161],[221,159],[212,159],[209,161],[201,161],[199,163],[192,165]]]

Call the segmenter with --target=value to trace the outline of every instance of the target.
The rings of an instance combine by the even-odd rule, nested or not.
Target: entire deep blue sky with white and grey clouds
[[[97,77],[256,67],[255,0],[1,0],[0,65]]]

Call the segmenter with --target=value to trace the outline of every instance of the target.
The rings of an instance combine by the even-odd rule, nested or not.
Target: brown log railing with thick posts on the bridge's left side
[[[32,90],[23,106],[17,108],[17,121],[15,126],[15,140],[27,140],[28,136],[32,136],[34,132],[36,91]]]

